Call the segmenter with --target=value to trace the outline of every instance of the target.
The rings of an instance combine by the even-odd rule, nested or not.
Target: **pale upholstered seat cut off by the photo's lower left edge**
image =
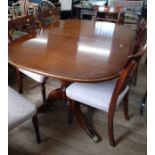
[[[8,88],[8,129],[11,131],[37,112],[34,104],[12,88]]]

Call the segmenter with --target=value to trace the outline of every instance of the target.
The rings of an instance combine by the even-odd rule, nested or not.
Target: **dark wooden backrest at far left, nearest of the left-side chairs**
[[[13,36],[10,33],[11,30],[16,28],[23,28],[26,26],[27,32],[32,32],[35,30],[35,18],[32,15],[27,15],[24,17],[16,18],[13,20],[8,21],[8,36],[10,42],[13,41]]]

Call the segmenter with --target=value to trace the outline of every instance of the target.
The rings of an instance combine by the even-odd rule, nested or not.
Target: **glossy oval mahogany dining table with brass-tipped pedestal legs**
[[[53,101],[67,101],[66,88],[73,82],[103,82],[119,76],[135,40],[135,31],[123,25],[79,19],[60,20],[27,34],[8,46],[11,65],[61,81],[40,112]],[[104,101],[103,101],[104,102]],[[99,136],[77,104],[75,116],[95,141]]]

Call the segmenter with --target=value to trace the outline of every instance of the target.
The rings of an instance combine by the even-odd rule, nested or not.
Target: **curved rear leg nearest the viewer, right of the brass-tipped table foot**
[[[116,143],[115,143],[115,140],[114,140],[113,121],[114,121],[114,112],[108,112],[108,133],[109,133],[109,141],[110,141],[110,144],[113,147],[115,147]]]

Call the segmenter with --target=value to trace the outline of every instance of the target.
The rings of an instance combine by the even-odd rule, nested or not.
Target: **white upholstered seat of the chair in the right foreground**
[[[117,79],[99,83],[73,83],[66,89],[69,98],[108,112]],[[119,95],[117,106],[128,92],[129,86]]]

